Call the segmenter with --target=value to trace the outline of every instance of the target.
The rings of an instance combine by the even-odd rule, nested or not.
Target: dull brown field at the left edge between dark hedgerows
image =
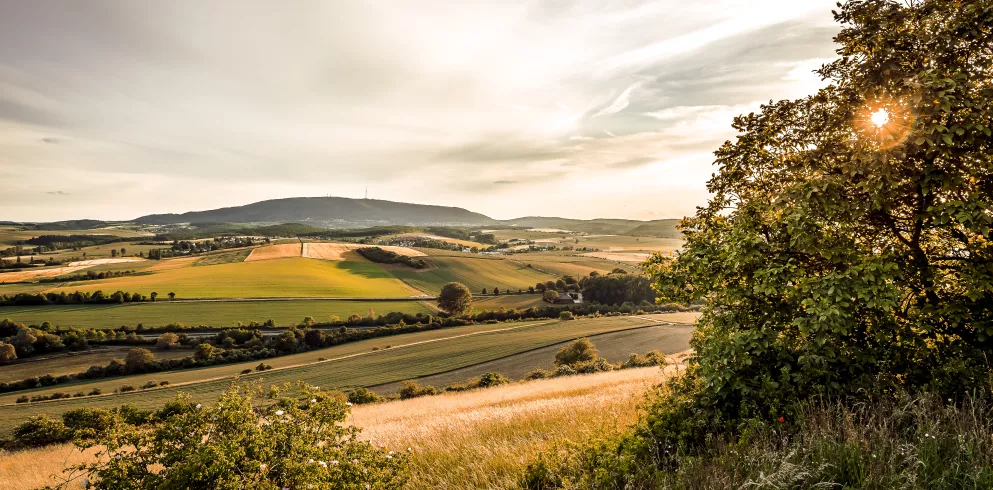
[[[124,359],[124,356],[128,354],[128,349],[130,347],[107,347],[45,356],[44,358],[30,358],[28,361],[8,364],[0,369],[0,382],[18,381],[43,374],[51,374],[52,376],[72,374],[86,371],[87,368],[94,365],[106,366],[114,359]],[[189,357],[193,355],[193,349],[157,350],[155,355],[159,359]]]

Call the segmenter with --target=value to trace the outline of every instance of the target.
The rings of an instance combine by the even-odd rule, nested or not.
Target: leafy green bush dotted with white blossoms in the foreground
[[[339,393],[301,387],[301,399],[232,386],[216,405],[181,396],[160,423],[134,426],[118,417],[81,448],[101,448],[97,463],[72,468],[54,488],[392,489],[405,480],[406,456],[358,439],[342,424]],[[49,487],[53,488],[53,487]]]

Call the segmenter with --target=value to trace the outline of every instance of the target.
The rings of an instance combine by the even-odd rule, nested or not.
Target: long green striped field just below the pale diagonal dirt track
[[[677,314],[678,315],[678,314]],[[492,361],[520,352],[558,344],[578,337],[628,330],[653,325],[667,315],[649,317],[621,316],[574,321],[548,320],[542,322],[475,325],[455,329],[419,332],[395,337],[370,339],[311,351],[293,356],[266,360],[276,370],[245,376],[246,381],[259,380],[266,385],[304,381],[325,388],[372,386],[412,379],[473,364]],[[653,321],[654,320],[654,321]],[[392,348],[385,348],[392,345]],[[379,347],[379,350],[372,350]],[[327,361],[313,361],[325,357]],[[172,373],[155,373],[31,390],[30,393],[53,391],[88,391],[101,387],[112,391],[123,384],[140,385],[148,380],[169,381],[170,386],[139,393],[122,393],[80,399],[57,400],[31,404],[10,404],[20,394],[0,396],[0,431],[10,430],[20,421],[37,414],[58,414],[78,407],[112,407],[125,403],[139,407],[161,405],[178,392],[190,393],[201,401],[212,401],[231,383],[231,376],[256,363],[215,366]],[[289,366],[279,369],[282,366]],[[223,376],[223,377],[222,377]],[[217,379],[221,377],[220,379]],[[200,381],[208,380],[208,381]]]

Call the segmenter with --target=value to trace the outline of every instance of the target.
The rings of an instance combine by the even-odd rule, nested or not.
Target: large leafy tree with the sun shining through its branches
[[[737,118],[684,249],[649,263],[663,299],[707,301],[690,382],[724,415],[988,372],[993,0],[835,16],[830,85]]]

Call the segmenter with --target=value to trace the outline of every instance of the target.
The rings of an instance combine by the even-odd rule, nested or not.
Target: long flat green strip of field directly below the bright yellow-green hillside
[[[238,322],[275,320],[278,326],[300,323],[306,316],[327,321],[331,315],[346,318],[353,313],[366,316],[372,308],[377,314],[434,313],[433,307],[421,301],[156,301],[155,303],[126,303],[121,305],[54,305],[10,306],[0,308],[0,318],[9,318],[26,325],[51,322],[66,328],[117,328],[136,326],[158,327],[170,323],[226,327]]]

